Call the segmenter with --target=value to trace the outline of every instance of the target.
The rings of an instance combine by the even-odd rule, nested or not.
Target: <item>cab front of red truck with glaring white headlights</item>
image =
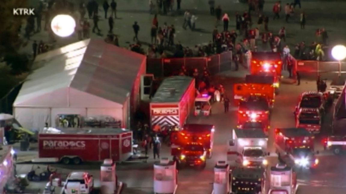
[[[311,150],[310,148],[294,148],[292,150],[291,157],[294,161],[294,164],[300,168],[313,169],[316,168],[319,163],[315,152],[313,152],[313,150]]]

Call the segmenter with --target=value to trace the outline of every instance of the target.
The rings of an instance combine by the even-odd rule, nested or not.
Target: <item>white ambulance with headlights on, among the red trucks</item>
[[[233,139],[229,140],[227,157],[238,155],[244,167],[266,166],[266,156],[269,155],[267,143],[268,138],[262,129],[233,129]]]

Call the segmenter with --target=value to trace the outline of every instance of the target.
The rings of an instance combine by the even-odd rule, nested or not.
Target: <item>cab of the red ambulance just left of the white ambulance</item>
[[[180,155],[175,158],[179,167],[206,167],[207,151],[201,143],[187,143],[180,147]]]

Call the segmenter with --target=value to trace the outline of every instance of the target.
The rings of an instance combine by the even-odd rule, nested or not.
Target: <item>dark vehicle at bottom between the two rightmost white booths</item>
[[[258,194],[265,190],[265,168],[238,167],[231,172],[231,193]]]

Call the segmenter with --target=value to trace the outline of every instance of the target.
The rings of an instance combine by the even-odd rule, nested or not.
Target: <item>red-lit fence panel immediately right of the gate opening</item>
[[[297,61],[297,71],[301,78],[316,80],[318,76],[317,61]]]

